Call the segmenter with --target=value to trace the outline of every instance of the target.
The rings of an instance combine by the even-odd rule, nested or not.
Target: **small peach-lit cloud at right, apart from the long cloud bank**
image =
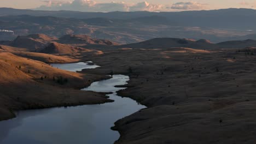
[[[200,10],[206,9],[207,4],[197,3],[197,2],[178,2],[172,4],[171,9],[179,10]]]

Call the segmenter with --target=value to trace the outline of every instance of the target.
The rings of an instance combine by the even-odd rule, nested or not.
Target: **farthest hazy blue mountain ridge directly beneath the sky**
[[[107,19],[136,19],[138,17],[162,16],[166,19],[175,21],[179,26],[198,26],[198,27],[219,27],[219,28],[238,28],[254,29],[256,26],[256,10],[254,9],[219,9],[219,10],[200,10],[182,12],[121,12],[114,11],[109,13],[92,13],[80,11],[43,11],[43,10],[21,10],[12,8],[0,8],[0,16],[5,15],[32,15],[32,16],[54,16],[78,19],[90,19],[102,17]]]

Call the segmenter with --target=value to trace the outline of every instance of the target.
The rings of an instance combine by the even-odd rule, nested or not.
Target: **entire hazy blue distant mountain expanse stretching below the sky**
[[[0,8],[0,40],[42,33],[51,37],[89,35],[119,44],[153,38],[209,39],[213,43],[256,39],[256,10],[220,9],[182,12],[148,11],[89,13]]]

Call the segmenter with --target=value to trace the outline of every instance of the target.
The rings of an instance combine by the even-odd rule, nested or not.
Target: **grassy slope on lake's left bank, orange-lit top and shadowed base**
[[[14,117],[13,110],[98,104],[110,101],[103,94],[82,88],[103,77],[53,68],[11,53],[0,53],[0,120]]]

